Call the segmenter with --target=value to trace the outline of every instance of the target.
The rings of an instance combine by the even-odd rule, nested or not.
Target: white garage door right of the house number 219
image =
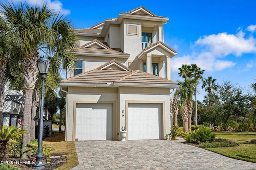
[[[128,139],[162,139],[160,104],[128,104]]]

